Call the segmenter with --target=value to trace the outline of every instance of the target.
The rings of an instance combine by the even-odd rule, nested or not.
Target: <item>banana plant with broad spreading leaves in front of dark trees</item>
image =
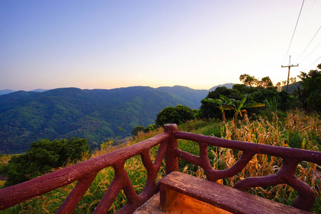
[[[262,107],[265,106],[264,103],[248,103],[246,105],[244,105],[245,101],[246,101],[246,97],[244,97],[241,101],[235,101],[235,99],[233,98],[227,98],[226,96],[220,95],[220,98],[225,101],[226,103],[228,103],[228,106],[230,106],[233,111],[234,111],[234,116],[233,116],[233,121],[235,123],[237,123],[238,120],[238,115],[240,115],[241,117],[243,117],[244,113],[246,116],[248,115],[248,111],[246,111],[243,108],[255,108],[255,107]],[[247,117],[245,117],[247,118]]]

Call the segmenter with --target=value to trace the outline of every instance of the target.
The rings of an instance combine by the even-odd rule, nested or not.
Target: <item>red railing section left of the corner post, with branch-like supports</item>
[[[177,126],[173,127],[175,128]],[[170,131],[170,128],[166,130],[173,133],[173,131]],[[122,209],[125,212],[122,211],[121,213],[132,213],[139,205],[145,203],[146,200],[158,192],[158,186],[155,180],[169,140],[170,133],[165,132],[132,146],[121,148],[117,151],[92,158],[88,161],[83,161],[76,165],[71,165],[68,168],[57,170],[39,178],[1,189],[0,210],[78,181],[75,188],[73,188],[56,212],[72,213],[78,201],[81,200],[83,194],[88,190],[93,179],[96,178],[97,173],[103,168],[113,167],[115,170],[113,182],[102,198],[101,203],[98,204],[95,213],[107,213],[121,189],[124,190],[126,198],[130,198],[128,204]],[[158,153],[155,161],[152,162],[149,156],[149,150],[158,145],[160,145]],[[146,186],[140,195],[136,195],[135,191],[133,191],[133,185],[131,185],[128,175],[123,168],[123,163],[125,163],[126,160],[137,155],[141,155],[143,164],[148,172]]]

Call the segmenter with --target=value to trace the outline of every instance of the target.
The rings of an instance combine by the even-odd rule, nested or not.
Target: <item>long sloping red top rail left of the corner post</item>
[[[76,180],[86,178],[93,173],[98,173],[103,168],[126,161],[128,158],[136,156],[143,151],[149,151],[149,149],[157,146],[159,143],[168,141],[169,138],[169,133],[162,133],[153,138],[136,143],[135,145],[121,148],[117,151],[92,158],[76,165],[71,165],[68,168],[63,168],[39,178],[34,178],[24,183],[1,189],[0,210],[34,198],[37,195],[43,195],[56,188],[61,188]]]

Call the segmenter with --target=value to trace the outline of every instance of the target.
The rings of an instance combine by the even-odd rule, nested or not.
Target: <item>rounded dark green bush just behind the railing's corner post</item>
[[[156,117],[156,124],[164,126],[166,123],[185,123],[186,121],[193,120],[193,111],[187,106],[178,105],[174,107],[166,107]]]

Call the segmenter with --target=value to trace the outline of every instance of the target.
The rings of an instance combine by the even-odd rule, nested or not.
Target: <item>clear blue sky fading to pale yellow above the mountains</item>
[[[302,0],[0,0],[0,90],[209,89],[240,83],[243,73],[277,83],[287,78],[281,65],[289,55],[299,63],[290,77],[321,63],[320,0],[305,0],[287,53],[301,6]]]

